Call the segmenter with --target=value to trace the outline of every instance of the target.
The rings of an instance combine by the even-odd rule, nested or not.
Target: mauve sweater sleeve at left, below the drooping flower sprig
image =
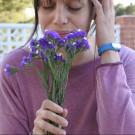
[[[27,113],[15,76],[7,77],[0,67],[0,134],[29,134]]]

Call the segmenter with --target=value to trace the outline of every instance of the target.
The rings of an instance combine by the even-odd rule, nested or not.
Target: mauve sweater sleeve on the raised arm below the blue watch
[[[96,79],[99,133],[135,134],[135,61],[100,65]]]

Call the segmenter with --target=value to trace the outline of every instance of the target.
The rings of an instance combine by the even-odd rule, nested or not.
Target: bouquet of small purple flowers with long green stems
[[[79,52],[89,48],[86,32],[80,29],[64,38],[57,32],[46,30],[42,38],[31,40],[29,56],[22,58],[20,67],[6,64],[5,72],[7,75],[15,74],[25,67],[34,66],[35,59],[41,59],[44,68],[38,74],[47,90],[48,99],[62,106],[72,62]]]

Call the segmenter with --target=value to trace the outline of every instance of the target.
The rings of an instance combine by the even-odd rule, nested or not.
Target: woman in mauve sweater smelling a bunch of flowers
[[[97,45],[74,60],[64,107],[47,100],[34,69],[4,75],[4,65],[17,66],[27,46],[8,54],[0,74],[0,134],[134,134],[135,52],[113,46],[113,1],[34,0],[34,6],[36,24],[61,36],[78,28],[88,32],[95,19]],[[42,68],[39,61],[35,64]]]

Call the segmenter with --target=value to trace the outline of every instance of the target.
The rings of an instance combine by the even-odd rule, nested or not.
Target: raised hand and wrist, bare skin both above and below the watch
[[[115,42],[113,0],[91,0],[96,10],[96,44]],[[101,64],[120,62],[118,52],[109,50],[101,55]]]

